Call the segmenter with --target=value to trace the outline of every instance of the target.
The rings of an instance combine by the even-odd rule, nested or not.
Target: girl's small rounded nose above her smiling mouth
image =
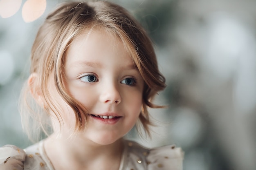
[[[102,88],[100,101],[108,104],[119,104],[121,102],[121,95],[118,87],[115,84],[109,84]]]

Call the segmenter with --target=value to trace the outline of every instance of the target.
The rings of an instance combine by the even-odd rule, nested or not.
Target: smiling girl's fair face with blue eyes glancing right
[[[121,40],[100,29],[84,31],[66,54],[67,90],[89,115],[88,126],[79,134],[98,144],[112,144],[139,117],[144,87],[140,73]],[[70,113],[64,110],[64,124],[74,127]]]

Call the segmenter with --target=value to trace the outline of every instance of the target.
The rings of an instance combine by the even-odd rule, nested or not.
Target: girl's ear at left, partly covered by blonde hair
[[[43,100],[43,92],[41,90],[41,86],[39,85],[39,76],[37,73],[32,73],[29,76],[27,85],[29,86],[30,93],[35,99],[36,103],[44,108],[45,102]]]

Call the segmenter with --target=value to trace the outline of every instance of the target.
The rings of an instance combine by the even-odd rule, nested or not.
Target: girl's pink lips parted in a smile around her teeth
[[[94,114],[90,114],[90,117],[97,121],[97,122],[100,122],[101,124],[110,124],[110,125],[114,125],[116,124],[118,121],[120,121],[122,119],[122,116],[120,116],[119,114],[116,114],[116,113],[103,113],[103,114],[95,114],[97,116],[115,116],[114,118],[112,119],[103,119],[103,118],[100,118],[100,117],[95,117],[93,116]]]

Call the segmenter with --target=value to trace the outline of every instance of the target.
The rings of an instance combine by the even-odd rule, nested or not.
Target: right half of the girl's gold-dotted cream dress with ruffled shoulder
[[[125,166],[129,170],[182,170],[183,152],[175,145],[145,148],[136,142],[126,141],[125,152],[128,160]]]

